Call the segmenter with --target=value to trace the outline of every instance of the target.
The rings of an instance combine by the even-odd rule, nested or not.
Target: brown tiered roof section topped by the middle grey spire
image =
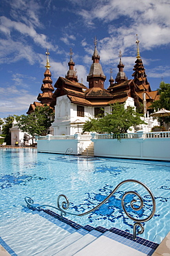
[[[106,77],[103,73],[102,66],[99,63],[100,56],[98,55],[96,48],[96,39],[92,60],[93,63],[91,65],[89,75],[87,75],[89,89],[87,89],[84,84],[76,82],[76,80],[72,80],[72,77],[69,77],[69,79],[59,77],[56,84],[54,84],[56,91],[54,92],[54,101],[51,106],[54,106],[56,104],[56,98],[62,95],[67,95],[70,101],[74,104],[85,106],[100,107],[101,105],[107,105],[108,102],[112,100],[113,96],[104,89]]]

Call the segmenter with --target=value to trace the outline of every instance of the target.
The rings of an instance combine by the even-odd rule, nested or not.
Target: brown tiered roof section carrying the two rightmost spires
[[[128,97],[134,98],[134,103],[136,107],[140,107],[140,103],[143,103],[145,92],[146,94],[146,100],[147,100],[147,110],[149,110],[149,107],[151,106],[151,102],[154,100],[158,100],[159,95],[158,91],[151,91],[151,86],[149,82],[147,81],[147,75],[145,73],[145,68],[142,63],[142,59],[140,57],[140,51],[139,51],[139,41],[138,37],[136,39],[137,44],[137,56],[136,56],[136,64],[134,65],[134,73],[132,76],[134,77],[133,80],[127,80],[125,72],[123,71],[124,64],[122,63],[121,59],[118,64],[119,72],[116,77],[116,82],[110,82],[109,88],[107,91],[111,93],[114,96],[114,100],[112,100],[112,103],[114,102],[125,102]],[[119,55],[122,57],[122,55]],[[120,70],[122,68],[122,70]],[[121,72],[122,76],[121,76]],[[123,76],[125,79],[123,79]],[[122,77],[122,81],[121,78]],[[110,81],[110,80],[109,80]]]

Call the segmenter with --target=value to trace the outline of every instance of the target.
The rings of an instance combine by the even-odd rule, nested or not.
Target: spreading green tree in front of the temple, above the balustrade
[[[107,113],[103,118],[90,118],[83,126],[83,132],[96,131],[98,133],[123,134],[131,126],[144,123],[140,119],[140,113],[134,108],[125,109],[125,104],[113,104],[111,113]]]

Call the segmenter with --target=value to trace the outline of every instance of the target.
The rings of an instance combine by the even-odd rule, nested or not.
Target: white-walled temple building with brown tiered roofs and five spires
[[[75,63],[70,51],[69,69],[65,77],[59,77],[54,88],[50,73],[49,52],[47,55],[46,71],[44,73],[43,84],[37,100],[30,104],[28,114],[32,113],[36,106],[47,104],[54,108],[55,118],[52,123],[52,134],[73,135],[82,132],[84,123],[89,118],[104,116],[111,112],[111,104],[115,102],[125,103],[125,107],[135,107],[142,110],[147,118],[151,102],[158,100],[158,91],[151,91],[145,68],[142,64],[139,51],[139,41],[136,39],[137,57],[134,65],[132,79],[128,80],[124,71],[125,65],[122,62],[121,51],[119,53],[118,73],[116,79],[111,76],[109,86],[105,89],[105,74],[100,64],[100,55],[94,40],[94,53],[92,55],[92,65],[87,75],[88,88],[83,83],[78,82],[78,76],[74,70]],[[54,91],[54,93],[53,93]],[[151,129],[151,123],[148,129]],[[149,130],[147,130],[149,131]]]

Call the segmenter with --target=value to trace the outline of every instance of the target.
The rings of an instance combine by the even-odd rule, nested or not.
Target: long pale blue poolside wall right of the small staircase
[[[94,156],[170,161],[170,138],[92,139]]]

